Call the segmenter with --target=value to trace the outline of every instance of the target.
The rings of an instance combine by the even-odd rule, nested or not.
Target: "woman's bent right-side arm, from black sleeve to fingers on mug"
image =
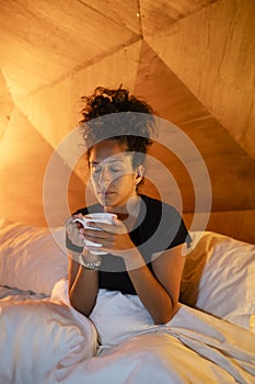
[[[154,258],[152,267],[155,278],[121,222],[116,219],[115,227],[103,224],[100,226],[102,230],[83,229],[83,235],[93,242],[102,244],[102,250],[123,257],[137,295],[154,323],[167,323],[178,309],[179,285],[185,261],[182,256],[183,245]],[[88,249],[95,250],[93,247]]]

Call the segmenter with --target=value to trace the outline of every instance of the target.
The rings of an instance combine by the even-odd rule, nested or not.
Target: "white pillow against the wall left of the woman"
[[[67,275],[65,228],[0,221],[0,284],[50,295]]]

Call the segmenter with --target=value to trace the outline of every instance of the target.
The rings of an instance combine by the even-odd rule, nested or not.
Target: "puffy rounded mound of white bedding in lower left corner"
[[[53,383],[96,353],[91,321],[62,303],[1,303],[0,329],[1,383]]]

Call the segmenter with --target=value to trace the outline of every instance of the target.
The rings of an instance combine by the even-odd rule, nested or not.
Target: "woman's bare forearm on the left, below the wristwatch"
[[[68,264],[69,298],[77,310],[89,316],[98,293],[98,271],[85,269],[76,261],[77,259],[78,253],[70,252]]]

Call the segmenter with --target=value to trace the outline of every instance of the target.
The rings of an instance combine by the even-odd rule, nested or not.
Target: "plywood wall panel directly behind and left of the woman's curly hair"
[[[90,66],[79,67],[72,76],[27,97],[18,98],[15,103],[49,145],[57,148],[78,126],[82,95],[91,94],[97,86],[119,87],[121,82],[134,89],[140,47],[141,42],[138,41]],[[71,163],[72,149],[61,148],[58,149],[59,155]]]

